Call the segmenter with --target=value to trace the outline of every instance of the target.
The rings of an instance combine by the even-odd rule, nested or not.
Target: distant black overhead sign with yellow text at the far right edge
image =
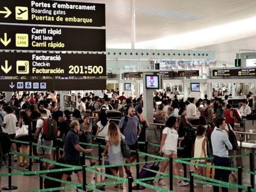
[[[256,75],[256,69],[218,69],[218,70],[213,70],[213,77],[253,76],[253,75]]]

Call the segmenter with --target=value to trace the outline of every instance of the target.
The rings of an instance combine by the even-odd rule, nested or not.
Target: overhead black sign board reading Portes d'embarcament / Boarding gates
[[[0,22],[105,26],[105,4],[70,1],[0,1]]]

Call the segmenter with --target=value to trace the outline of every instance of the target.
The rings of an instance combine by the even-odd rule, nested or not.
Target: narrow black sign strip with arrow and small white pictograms
[[[105,79],[1,81],[1,91],[106,90]]]

